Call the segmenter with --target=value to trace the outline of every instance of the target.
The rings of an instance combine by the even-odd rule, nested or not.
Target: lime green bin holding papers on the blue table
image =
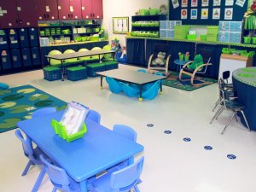
[[[53,127],[55,134],[57,134],[59,137],[61,137],[68,143],[84,137],[84,134],[87,132],[87,127],[85,124],[83,125],[83,128],[81,131],[74,133],[72,135],[68,135],[65,126],[61,125],[61,123],[55,119],[51,120],[50,125]]]

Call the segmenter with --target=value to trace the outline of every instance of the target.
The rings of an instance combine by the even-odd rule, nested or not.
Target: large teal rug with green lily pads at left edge
[[[67,107],[67,102],[32,85],[0,90],[0,133],[15,129],[20,120],[31,119],[35,110],[46,107],[61,110]]]

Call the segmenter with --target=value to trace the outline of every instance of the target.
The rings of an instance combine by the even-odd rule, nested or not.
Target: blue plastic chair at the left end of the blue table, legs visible
[[[15,135],[16,137],[18,137],[22,143],[22,148],[24,151],[24,154],[26,155],[26,157],[28,158],[28,162],[26,164],[26,167],[24,169],[24,171],[22,172],[21,176],[25,176],[26,173],[29,170],[29,167],[32,165],[43,165],[43,162],[40,160],[39,155],[44,154],[44,152],[36,147],[36,148],[32,148],[32,141],[29,137],[26,137],[26,139],[22,136],[20,130],[16,130],[15,131]],[[46,156],[46,154],[44,154]],[[47,157],[49,159],[49,157]],[[34,187],[32,189],[32,191],[37,191],[40,184],[43,181],[44,178],[44,174],[45,174],[45,169],[44,167],[41,169],[41,172],[38,176],[37,182],[34,184]]]

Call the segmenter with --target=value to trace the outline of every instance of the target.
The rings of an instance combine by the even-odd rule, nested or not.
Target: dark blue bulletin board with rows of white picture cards
[[[183,25],[218,26],[219,20],[241,21],[251,0],[170,0],[169,20]]]

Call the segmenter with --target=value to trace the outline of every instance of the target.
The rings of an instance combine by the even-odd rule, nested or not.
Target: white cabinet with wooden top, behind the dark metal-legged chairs
[[[229,83],[232,83],[232,72],[242,67],[252,67],[253,57],[241,55],[222,54],[219,61],[218,79],[222,78],[224,71],[230,71]]]

